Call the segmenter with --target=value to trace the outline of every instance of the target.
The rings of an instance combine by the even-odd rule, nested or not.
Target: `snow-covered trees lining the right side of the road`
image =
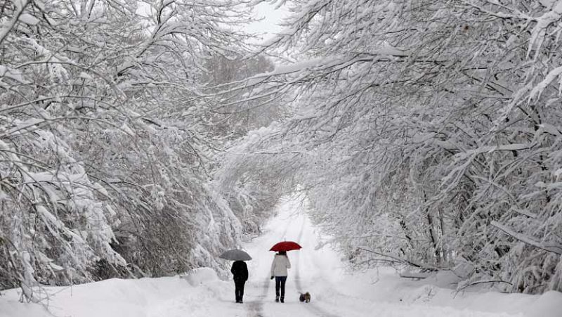
[[[351,261],[562,290],[562,1],[273,2],[294,63],[224,93],[293,96],[276,133]]]

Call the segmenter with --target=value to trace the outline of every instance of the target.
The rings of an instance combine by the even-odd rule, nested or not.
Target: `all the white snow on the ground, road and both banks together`
[[[254,259],[248,261],[250,278],[244,304],[235,304],[232,280],[219,280],[202,268],[187,276],[104,280],[73,287],[47,287],[46,311],[37,304],[18,302],[18,290],[0,297],[0,317],[560,317],[562,293],[541,296],[469,291],[455,294],[450,277],[440,274],[425,280],[399,278],[391,269],[350,273],[329,247],[315,250],[320,238],[298,200],[287,199],[266,233],[246,245]],[[325,237],[327,238],[327,237]],[[280,240],[294,240],[303,249],[289,252],[285,304],[275,303],[275,283],[270,280],[273,252]],[[299,292],[311,292],[309,304],[299,302]]]

